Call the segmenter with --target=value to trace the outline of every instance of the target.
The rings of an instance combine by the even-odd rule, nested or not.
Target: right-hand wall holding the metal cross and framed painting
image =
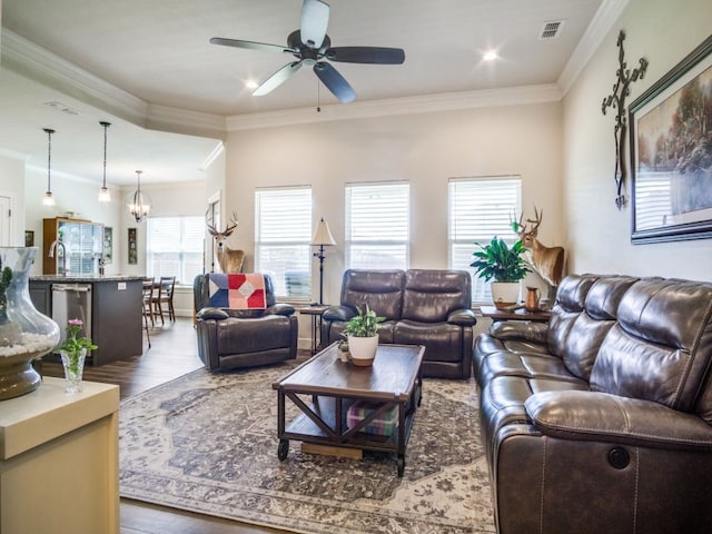
[[[614,205],[613,117],[601,112],[615,82],[621,29],[629,66],[640,57],[650,61],[645,78],[631,86],[630,105],[710,34],[710,0],[631,0],[566,95],[563,209],[571,270],[712,279],[711,239],[631,244],[631,206],[619,211]]]

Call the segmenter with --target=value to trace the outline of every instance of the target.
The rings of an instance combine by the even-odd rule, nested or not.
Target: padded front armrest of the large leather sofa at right
[[[600,392],[535,393],[526,413],[544,435],[666,449],[712,451],[712,426],[662,404]]]

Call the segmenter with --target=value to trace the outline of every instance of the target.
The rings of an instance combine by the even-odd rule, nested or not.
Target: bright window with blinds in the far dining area
[[[192,284],[204,270],[205,219],[149,217],[147,233],[148,276],[175,276],[177,284]]]

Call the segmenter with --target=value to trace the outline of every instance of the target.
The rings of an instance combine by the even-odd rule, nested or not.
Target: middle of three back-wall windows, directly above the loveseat
[[[409,195],[404,182],[346,186],[346,265],[407,269]]]

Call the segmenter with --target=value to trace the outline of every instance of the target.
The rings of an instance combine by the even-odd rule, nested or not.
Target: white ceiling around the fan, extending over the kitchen
[[[299,26],[299,0],[0,1],[0,149],[26,155],[29,165],[46,166],[41,129],[51,127],[57,130],[53,171],[100,181],[103,131],[98,122],[108,120],[110,182],[134,182],[138,168],[147,182],[196,179],[218,142],[145,129],[158,125],[147,118],[150,113],[185,111],[215,132],[227,117],[317,102],[343,106],[307,68],[271,93],[253,97],[245,81],[265,80],[291,56],[208,42],[225,37],[286,44]],[[333,46],[396,47],[406,55],[402,66],[333,65],[355,89],[357,102],[552,85],[609,1],[330,0]],[[560,36],[540,40],[543,24],[552,20],[564,21]],[[10,40],[10,48],[21,42],[29,50],[26,58],[38,59],[9,58]],[[488,49],[501,59],[483,62]],[[81,76],[58,81],[50,76],[55,69]],[[87,87],[92,85],[103,91]],[[52,101],[79,113],[46,105]]]

